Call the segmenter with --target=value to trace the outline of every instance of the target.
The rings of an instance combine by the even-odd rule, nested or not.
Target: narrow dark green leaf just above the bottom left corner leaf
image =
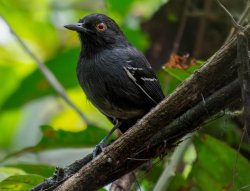
[[[55,170],[55,167],[44,164],[16,164],[8,167],[21,169],[28,174],[37,174],[43,177],[51,176]]]

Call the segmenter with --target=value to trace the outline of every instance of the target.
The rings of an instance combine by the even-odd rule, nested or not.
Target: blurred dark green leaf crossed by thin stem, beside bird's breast
[[[78,84],[75,72],[78,54],[79,49],[72,49],[45,63],[65,88]],[[55,93],[40,70],[36,69],[21,82],[17,90],[5,101],[2,109],[19,107],[33,99]]]

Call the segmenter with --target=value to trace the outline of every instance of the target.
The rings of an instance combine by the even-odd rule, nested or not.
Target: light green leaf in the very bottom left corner
[[[1,191],[27,191],[44,180],[38,175],[10,176],[0,182]]]

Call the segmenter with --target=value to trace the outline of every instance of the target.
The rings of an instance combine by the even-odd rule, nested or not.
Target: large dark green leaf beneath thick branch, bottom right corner
[[[194,144],[197,160],[189,178],[200,190],[238,190],[249,185],[249,161],[235,150],[208,135],[196,137]]]

